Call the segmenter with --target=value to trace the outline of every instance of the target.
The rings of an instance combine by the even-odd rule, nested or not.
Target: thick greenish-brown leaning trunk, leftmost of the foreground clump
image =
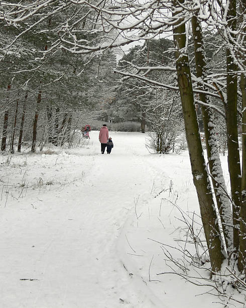
[[[180,8],[178,0],[174,4]],[[176,10],[176,12],[179,12]],[[173,13],[173,16],[178,13]],[[176,46],[176,70],[178,86],[182,103],[186,140],[189,150],[193,182],[196,188],[200,206],[201,219],[213,271],[221,269],[224,260],[223,243],[220,236],[218,219],[213,202],[210,182],[206,170],[203,149],[199,134],[195,110],[189,58],[186,50],[186,29],[184,20],[179,19],[173,27],[174,43]]]

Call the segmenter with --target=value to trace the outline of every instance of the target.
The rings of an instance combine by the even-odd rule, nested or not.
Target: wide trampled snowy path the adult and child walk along
[[[109,156],[97,155],[96,141],[92,133],[92,155],[75,165],[77,173],[85,165],[79,181],[38,196],[28,191],[19,210],[8,201],[1,215],[1,307],[152,306],[116,250],[134,198],[152,185],[145,164],[136,163],[144,144],[113,140]]]

